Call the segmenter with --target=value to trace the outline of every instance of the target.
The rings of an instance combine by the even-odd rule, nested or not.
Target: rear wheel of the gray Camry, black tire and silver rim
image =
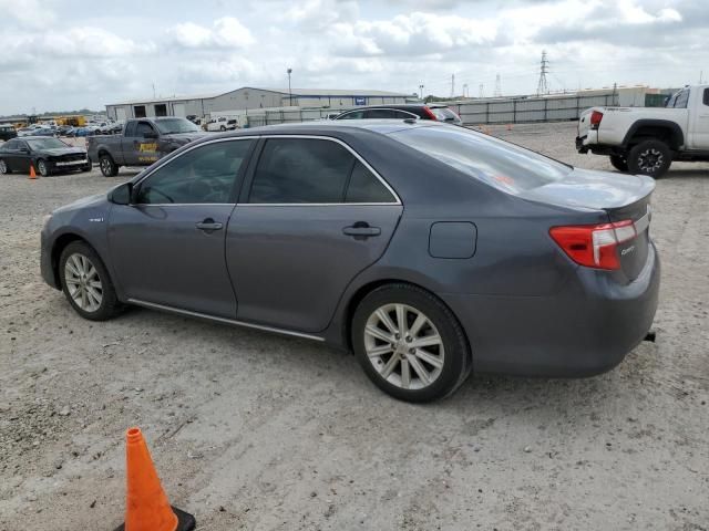
[[[373,290],[358,305],[351,330],[364,373],[394,398],[443,398],[470,373],[467,341],[455,315],[420,288],[387,284]]]

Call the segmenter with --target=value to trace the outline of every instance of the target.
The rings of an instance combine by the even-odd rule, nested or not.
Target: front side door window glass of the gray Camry
[[[137,202],[230,204],[251,139],[205,144],[156,169],[141,185]]]

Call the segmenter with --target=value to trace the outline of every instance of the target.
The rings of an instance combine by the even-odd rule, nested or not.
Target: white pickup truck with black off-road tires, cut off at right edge
[[[592,107],[578,121],[576,149],[650,177],[672,160],[709,162],[709,85],[686,86],[665,107]]]

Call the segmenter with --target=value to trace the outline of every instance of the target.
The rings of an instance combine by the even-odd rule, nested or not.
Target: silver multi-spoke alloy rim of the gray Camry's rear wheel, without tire
[[[445,356],[435,325],[407,304],[384,304],[369,316],[364,350],[379,375],[403,389],[422,389],[435,382]]]

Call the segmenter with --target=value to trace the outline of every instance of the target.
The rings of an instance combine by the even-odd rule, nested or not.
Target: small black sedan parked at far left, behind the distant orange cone
[[[91,170],[86,150],[59,138],[23,136],[0,145],[0,174],[29,173],[30,166],[43,176],[75,169]]]

